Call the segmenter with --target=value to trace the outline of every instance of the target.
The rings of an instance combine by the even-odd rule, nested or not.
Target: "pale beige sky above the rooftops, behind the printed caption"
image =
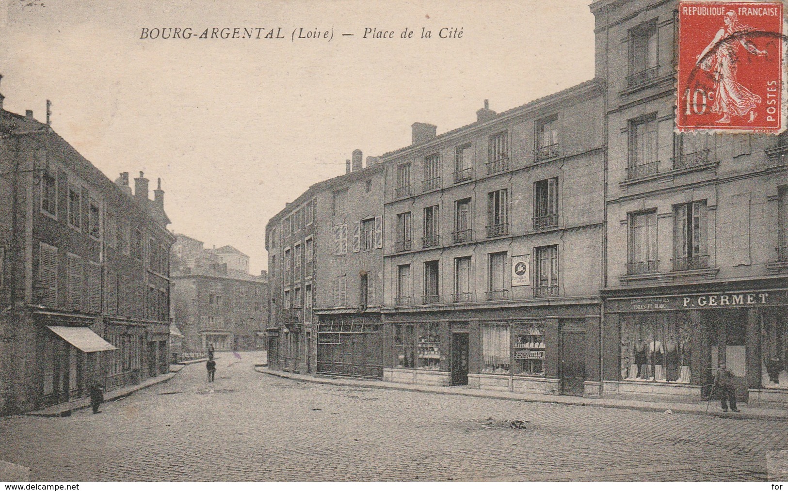
[[[0,92],[39,121],[50,99],[54,130],[111,179],[161,177],[170,230],[232,244],[256,272],[269,218],[354,149],[384,154],[416,121],[446,132],[484,99],[500,112],[592,78],[589,3],[0,0]],[[292,39],[301,28],[319,37]],[[256,39],[271,29],[284,39]]]

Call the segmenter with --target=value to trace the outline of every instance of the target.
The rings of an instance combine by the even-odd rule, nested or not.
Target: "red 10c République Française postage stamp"
[[[680,2],[676,128],[784,129],[782,2]]]

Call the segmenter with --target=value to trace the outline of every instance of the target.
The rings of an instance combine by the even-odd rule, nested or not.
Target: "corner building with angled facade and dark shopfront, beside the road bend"
[[[271,366],[382,377],[383,168],[352,157],[266,227]]]

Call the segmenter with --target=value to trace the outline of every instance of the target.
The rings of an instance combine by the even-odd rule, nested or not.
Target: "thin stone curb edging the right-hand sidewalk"
[[[616,402],[607,402],[612,401],[610,399],[604,400],[605,402],[601,402],[600,399],[589,399],[585,402],[579,402],[574,400],[539,400],[539,399],[530,399],[527,397],[526,394],[518,394],[517,396],[495,396],[492,394],[486,393],[479,393],[479,394],[469,394],[466,392],[452,392],[448,390],[442,389],[424,389],[415,385],[414,387],[407,387],[405,385],[402,386],[388,386],[388,385],[377,385],[377,384],[370,384],[362,381],[344,381],[340,378],[320,378],[320,377],[310,377],[304,376],[300,374],[288,374],[284,372],[279,372],[277,370],[258,370],[258,368],[264,368],[262,365],[255,365],[255,371],[260,374],[266,375],[273,375],[274,377],[279,378],[287,378],[289,380],[295,381],[305,381],[311,382],[314,384],[322,384],[322,385],[342,385],[342,386],[350,386],[350,387],[362,387],[365,389],[387,389],[387,390],[402,390],[407,392],[421,392],[425,394],[441,394],[445,396],[466,396],[466,397],[482,397],[484,399],[492,399],[492,400],[511,400],[511,401],[518,401],[518,402],[528,402],[528,403],[539,403],[539,404],[561,404],[563,406],[582,406],[582,407],[601,407],[607,409],[629,409],[630,411],[643,411],[643,412],[665,412],[668,409],[671,410],[674,414],[683,414],[683,415],[707,415],[713,416],[716,418],[727,418],[727,419],[760,419],[765,421],[788,421],[788,413],[785,416],[781,415],[753,415],[753,414],[744,414],[742,413],[716,413],[716,412],[706,412],[700,411],[697,409],[684,409],[678,408],[675,409],[673,407],[648,407],[648,406],[636,406],[636,405],[629,405],[629,404],[622,404],[619,402],[620,400],[615,400]]]

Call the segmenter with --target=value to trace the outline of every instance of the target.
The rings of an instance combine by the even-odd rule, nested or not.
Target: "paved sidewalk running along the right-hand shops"
[[[468,389],[463,386],[431,386],[415,384],[398,384],[396,382],[385,382],[380,380],[366,380],[354,378],[336,378],[328,375],[313,376],[302,374],[291,374],[279,370],[271,370],[267,366],[255,365],[255,371],[261,374],[276,375],[281,378],[290,378],[297,381],[309,381],[316,384],[344,385],[350,387],[365,387],[369,389],[392,389],[407,390],[411,392],[428,392],[433,394],[447,394],[452,396],[474,396],[486,397],[488,399],[500,400],[519,400],[522,402],[536,402],[545,404],[566,404],[569,406],[586,407],[615,407],[619,409],[631,409],[634,411],[664,412],[670,409],[675,413],[687,415],[706,414],[707,404],[703,403],[673,403],[673,402],[649,402],[645,400],[622,400],[622,399],[586,399],[577,396],[549,396],[546,394],[524,394],[519,392],[503,392],[497,390]],[[770,421],[788,421],[788,408],[775,409],[772,407],[747,407],[747,404],[739,404],[742,412],[723,413],[719,409],[719,401],[712,400],[708,404],[708,415],[719,418],[731,419],[766,419]]]

